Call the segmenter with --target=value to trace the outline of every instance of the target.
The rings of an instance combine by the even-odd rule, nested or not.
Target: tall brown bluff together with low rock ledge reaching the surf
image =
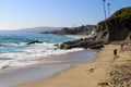
[[[122,8],[96,26],[96,36],[75,41],[63,42],[61,49],[75,47],[99,49],[114,41],[131,42],[131,7]]]

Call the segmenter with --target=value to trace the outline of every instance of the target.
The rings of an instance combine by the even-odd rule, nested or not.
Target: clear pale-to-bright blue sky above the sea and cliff
[[[106,0],[110,14],[131,7],[131,0]],[[72,27],[103,21],[103,0],[0,0],[0,29]]]

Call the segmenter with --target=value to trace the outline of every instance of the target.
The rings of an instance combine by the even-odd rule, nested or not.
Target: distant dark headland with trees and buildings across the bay
[[[61,30],[43,32],[41,34],[90,35],[95,27],[95,25],[82,25],[80,27],[64,27]]]

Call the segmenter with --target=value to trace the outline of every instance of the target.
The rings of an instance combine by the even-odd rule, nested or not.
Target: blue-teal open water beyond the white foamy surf
[[[21,33],[21,32],[0,32],[0,53],[22,52],[28,49],[27,42],[40,40],[46,44],[60,44],[63,41],[74,40],[75,38],[61,35]]]

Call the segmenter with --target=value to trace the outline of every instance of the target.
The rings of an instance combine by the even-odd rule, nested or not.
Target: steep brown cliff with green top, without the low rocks
[[[131,40],[131,7],[123,8],[97,24],[96,39],[105,41]]]

